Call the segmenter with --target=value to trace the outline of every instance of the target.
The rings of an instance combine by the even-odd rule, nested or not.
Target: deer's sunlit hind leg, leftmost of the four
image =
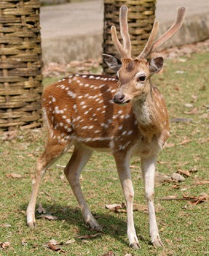
[[[32,193],[31,199],[28,204],[28,208],[26,211],[27,215],[27,225],[28,227],[35,227],[35,207],[36,207],[36,198],[39,191],[40,182],[42,181],[42,177],[44,176],[46,170],[56,159],[58,159],[63,151],[68,146],[67,143],[58,143],[56,140],[48,140],[45,150],[42,155],[37,159],[36,162],[36,173],[35,179],[32,184]]]

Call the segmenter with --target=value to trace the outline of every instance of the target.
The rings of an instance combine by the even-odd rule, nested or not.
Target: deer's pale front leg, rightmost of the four
[[[156,166],[156,157],[141,159],[141,169],[143,173],[146,202],[149,211],[149,232],[151,243],[154,247],[163,246],[159,238],[157,221],[154,210],[154,173]]]

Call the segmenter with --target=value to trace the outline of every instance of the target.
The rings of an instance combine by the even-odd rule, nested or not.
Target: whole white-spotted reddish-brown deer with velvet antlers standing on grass
[[[155,21],[145,47],[135,59],[131,57],[127,11],[125,6],[119,11],[123,45],[117,37],[116,27],[111,26],[111,37],[121,59],[103,55],[108,66],[117,73],[116,77],[75,74],[44,90],[42,113],[47,126],[47,142],[36,162],[36,175],[26,211],[27,225],[36,225],[36,197],[47,168],[74,146],[64,173],[84,221],[93,230],[101,230],[84,199],[79,176],[93,151],[108,151],[116,162],[125,196],[127,238],[133,249],[140,249],[133,219],[134,189],[130,173],[130,159],[137,156],[141,159],[151,243],[157,248],[163,244],[154,210],[154,173],[157,154],[169,137],[170,129],[165,100],[151,83],[151,76],[163,67],[163,58],[148,58],[181,28],[186,8],[178,8],[173,25],[158,39],[159,23]]]

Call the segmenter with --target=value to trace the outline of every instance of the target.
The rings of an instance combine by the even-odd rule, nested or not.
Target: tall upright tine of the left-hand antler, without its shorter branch
[[[125,5],[123,5],[120,8],[119,25],[120,25],[120,34],[124,42],[124,48],[127,51],[127,54],[131,56],[131,42],[130,42],[130,35],[128,33],[128,25],[127,25],[127,10],[128,9]]]

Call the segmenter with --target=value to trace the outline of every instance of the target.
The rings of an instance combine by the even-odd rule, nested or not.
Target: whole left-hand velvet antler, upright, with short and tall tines
[[[117,31],[115,26],[111,26],[112,40],[122,59],[131,59],[131,42],[127,26],[127,7],[124,5],[120,8],[119,11],[119,26],[124,46],[121,45],[119,39],[117,38]]]

